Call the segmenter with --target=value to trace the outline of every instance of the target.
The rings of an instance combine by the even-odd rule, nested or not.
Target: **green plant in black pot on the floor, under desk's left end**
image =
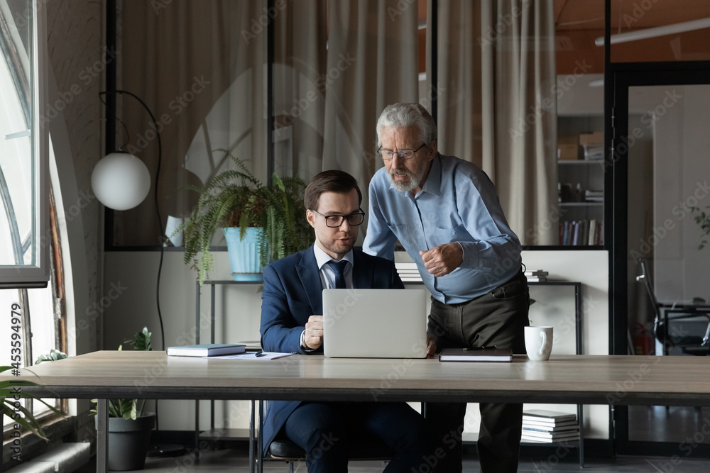
[[[133,345],[133,350],[151,350],[151,332],[143,327],[133,340],[124,344]],[[123,345],[119,346],[119,350]],[[97,402],[92,399],[92,402]],[[109,399],[109,469],[126,471],[143,469],[146,452],[155,426],[155,413],[143,413],[144,399]],[[96,409],[92,414],[96,414]]]

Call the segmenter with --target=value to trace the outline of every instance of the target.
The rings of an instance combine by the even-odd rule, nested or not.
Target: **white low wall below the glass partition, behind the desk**
[[[406,255],[406,254],[404,254]],[[398,255],[400,256],[400,255]],[[114,288],[116,297],[100,308],[104,318],[104,347],[114,350],[144,325],[153,332],[153,347],[160,349],[158,316],[155,308],[155,283],[158,274],[157,252],[107,252],[104,294]],[[550,279],[582,283],[584,353],[608,353],[608,254],[606,251],[529,251],[523,262],[530,269],[545,269]],[[216,269],[212,279],[229,279],[226,252],[215,255]],[[421,285],[411,285],[421,288]],[[118,294],[120,288],[121,294]],[[182,252],[165,252],[160,284],[161,308],[165,325],[166,346],[192,342],[195,327],[195,272],[182,263]],[[531,311],[533,323],[551,323],[558,333],[568,333],[567,340],[555,340],[556,352],[574,353],[574,299],[569,289],[535,286],[531,290],[537,303]],[[261,294],[257,285],[216,286],[217,342],[258,340]],[[203,286],[200,317],[209,328],[210,289]],[[205,333],[204,336],[209,336]],[[201,341],[205,341],[202,338]],[[565,351],[567,350],[567,351]],[[194,426],[195,403],[192,401],[160,401],[160,428],[191,430]],[[202,403],[202,429],[209,427],[208,403]],[[555,406],[574,411],[574,406]],[[466,416],[466,431],[476,432],[478,408],[471,406]],[[608,438],[608,407],[586,408],[589,438]],[[249,404],[246,401],[217,402],[217,427],[248,427]],[[224,419],[226,418],[226,423]]]

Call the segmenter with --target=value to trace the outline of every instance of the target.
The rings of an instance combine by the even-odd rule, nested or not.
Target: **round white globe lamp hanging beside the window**
[[[146,199],[151,190],[151,173],[137,157],[127,152],[112,152],[94,167],[91,187],[104,206],[128,210]]]

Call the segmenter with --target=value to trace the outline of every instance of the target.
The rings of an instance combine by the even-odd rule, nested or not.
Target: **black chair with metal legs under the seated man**
[[[261,435],[263,428],[263,414],[266,413],[266,404],[268,401],[259,401],[259,434]],[[261,438],[258,442],[257,464],[258,473],[263,472],[263,448]],[[293,465],[298,461],[305,461],[306,452],[301,447],[293,443],[285,437],[285,435],[277,435],[277,437],[269,445],[268,457],[273,460],[282,460],[289,464],[289,471],[293,473]],[[351,440],[349,459],[350,460],[391,460],[394,456],[393,450],[383,443],[378,438],[359,438]]]

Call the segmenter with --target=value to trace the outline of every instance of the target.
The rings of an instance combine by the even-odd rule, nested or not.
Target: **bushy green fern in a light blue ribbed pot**
[[[209,246],[222,228],[234,279],[261,279],[263,266],[312,243],[303,204],[305,183],[299,177],[274,173],[272,187],[266,187],[238,157],[228,150],[217,151],[224,152],[236,169],[217,174],[203,187],[186,187],[200,198],[175,230],[184,233],[185,264],[193,263],[202,284],[214,267]]]

